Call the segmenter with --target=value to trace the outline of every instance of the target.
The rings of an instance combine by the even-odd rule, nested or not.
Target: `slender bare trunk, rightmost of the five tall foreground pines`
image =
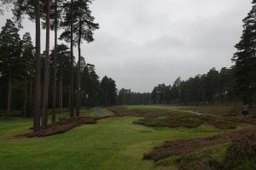
[[[77,72],[77,108],[76,108],[76,116],[79,116],[80,111],[80,91],[81,91],[81,36],[82,36],[82,26],[81,20],[79,19],[79,61],[78,61],[78,72]]]

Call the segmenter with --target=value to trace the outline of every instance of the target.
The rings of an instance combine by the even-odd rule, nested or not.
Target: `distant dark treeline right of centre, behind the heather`
[[[172,84],[154,87],[154,104],[213,105],[228,104],[236,100],[235,81],[232,69],[217,71],[212,68],[207,74],[182,81],[180,77]]]

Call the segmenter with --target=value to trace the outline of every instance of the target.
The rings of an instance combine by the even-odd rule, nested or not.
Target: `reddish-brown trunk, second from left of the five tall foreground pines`
[[[49,98],[49,1],[46,0],[46,43],[44,62],[44,97],[43,97],[43,117],[42,128],[47,128],[48,124],[48,98]]]

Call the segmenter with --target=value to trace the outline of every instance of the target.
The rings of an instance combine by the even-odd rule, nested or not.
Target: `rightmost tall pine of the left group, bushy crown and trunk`
[[[73,54],[73,46],[78,45],[79,49],[79,61],[77,67],[77,99],[76,99],[76,116],[79,116],[80,107],[80,85],[81,85],[81,43],[94,41],[93,31],[99,28],[99,25],[94,23],[95,18],[91,16],[89,8],[90,0],[76,0],[71,3],[67,3],[66,17],[61,23],[61,26],[65,28],[65,31],[61,34],[61,39],[71,43],[71,53]],[[72,74],[73,76],[73,74]],[[73,82],[71,82],[73,83]],[[71,85],[71,87],[73,87]],[[73,88],[71,89],[73,90]],[[71,104],[73,105],[73,92],[71,91]],[[71,114],[73,115],[73,114]]]

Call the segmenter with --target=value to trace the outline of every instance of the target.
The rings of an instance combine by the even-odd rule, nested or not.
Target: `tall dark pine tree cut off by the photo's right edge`
[[[236,77],[236,94],[245,104],[252,105],[256,89],[256,0],[253,8],[243,20],[241,40],[236,44],[233,61]]]

